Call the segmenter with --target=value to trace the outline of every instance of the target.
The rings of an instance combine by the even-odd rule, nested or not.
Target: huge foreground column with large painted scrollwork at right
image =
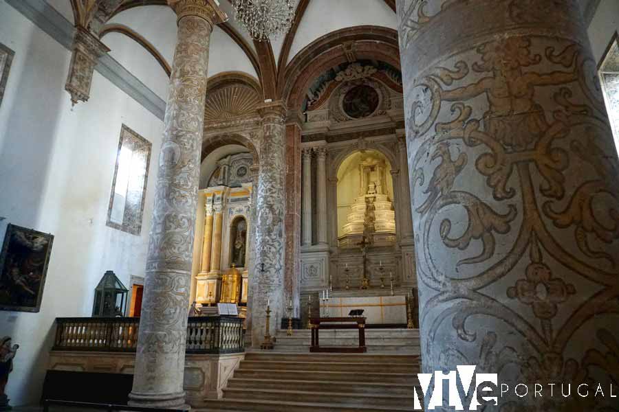
[[[617,376],[619,169],[578,2],[398,16],[424,371],[544,385],[501,411],[610,402],[547,387]]]

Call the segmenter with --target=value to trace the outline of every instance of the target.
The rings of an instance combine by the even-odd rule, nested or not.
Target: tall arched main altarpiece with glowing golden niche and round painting
[[[384,62],[352,62],[318,78],[306,103],[303,196],[312,201],[303,202],[302,216],[311,217],[303,227],[312,233],[301,247],[303,293],[388,295],[391,276],[396,294],[415,288],[400,71]],[[340,175],[342,166],[356,176]],[[371,242],[367,259],[359,246],[364,238]],[[360,291],[364,268],[369,290]]]

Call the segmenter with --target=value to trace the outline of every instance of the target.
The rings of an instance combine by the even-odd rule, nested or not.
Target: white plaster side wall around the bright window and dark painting
[[[41,312],[0,312],[21,345],[8,384],[35,404],[56,317],[89,317],[106,270],[129,285],[144,275],[162,122],[95,73],[89,102],[71,108],[69,52],[0,0],[0,42],[16,52],[0,106],[0,239],[6,223],[54,234]],[[122,124],[153,144],[141,236],[105,225]]]

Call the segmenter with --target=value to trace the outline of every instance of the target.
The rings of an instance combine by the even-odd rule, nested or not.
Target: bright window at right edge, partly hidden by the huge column
[[[619,147],[619,37],[615,33],[600,62],[599,76],[604,92],[604,100],[608,117],[615,138],[615,146]]]

